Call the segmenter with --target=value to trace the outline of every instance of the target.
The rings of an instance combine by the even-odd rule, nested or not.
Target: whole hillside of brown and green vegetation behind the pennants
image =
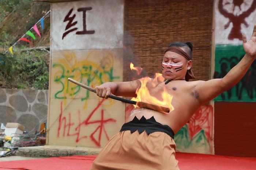
[[[5,51],[49,10],[50,5],[45,2],[0,0],[0,88],[48,89],[49,53],[21,49],[49,46],[50,17],[44,20],[41,38],[27,37],[31,44],[19,41],[13,47],[14,55]]]

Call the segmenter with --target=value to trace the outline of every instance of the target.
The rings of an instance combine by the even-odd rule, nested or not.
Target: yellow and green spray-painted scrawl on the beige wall
[[[118,76],[113,76],[114,55],[110,51],[95,51],[81,60],[77,58],[75,52],[63,52],[63,58],[57,60],[52,67],[54,68],[53,79],[56,84],[61,84],[61,89],[55,94],[56,99],[63,99],[63,104],[66,106],[68,98],[75,98],[80,91],[80,86],[70,83],[68,78],[75,79],[88,86],[95,87],[104,82],[111,82],[113,79],[119,79]],[[97,59],[99,59],[99,62]],[[91,93],[91,92],[90,92]],[[85,91],[85,96],[81,98],[84,101],[84,108],[87,106],[87,99],[90,95],[89,91]],[[112,105],[113,101],[105,105]],[[104,106],[104,105],[103,105]]]

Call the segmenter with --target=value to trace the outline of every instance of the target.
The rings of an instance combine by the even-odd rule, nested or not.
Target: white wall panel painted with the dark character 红
[[[52,4],[52,50],[123,48],[123,0]]]

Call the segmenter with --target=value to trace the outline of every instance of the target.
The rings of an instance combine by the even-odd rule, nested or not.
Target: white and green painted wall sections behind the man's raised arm
[[[215,73],[223,78],[245,55],[242,33],[251,38],[256,23],[256,0],[215,1]],[[223,92],[215,101],[256,101],[256,63],[244,78],[230,90]]]

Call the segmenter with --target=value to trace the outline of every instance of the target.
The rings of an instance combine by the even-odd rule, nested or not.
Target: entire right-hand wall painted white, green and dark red
[[[248,41],[255,24],[256,0],[215,1],[214,78],[223,78],[242,59],[245,52],[241,33]],[[255,142],[249,137],[256,121],[252,103],[256,102],[255,69],[254,61],[240,82],[214,99],[215,154],[255,157]],[[237,140],[243,140],[241,148]]]

